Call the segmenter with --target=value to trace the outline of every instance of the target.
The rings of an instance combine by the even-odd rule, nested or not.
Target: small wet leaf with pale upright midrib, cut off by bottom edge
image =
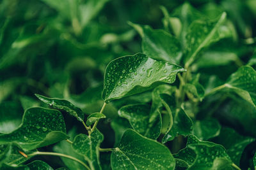
[[[89,136],[79,134],[72,143],[72,148],[83,155],[91,169],[101,169],[99,162],[99,146],[103,141],[103,135],[96,129]]]

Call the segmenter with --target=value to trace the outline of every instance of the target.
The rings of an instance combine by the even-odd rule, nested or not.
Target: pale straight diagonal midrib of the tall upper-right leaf
[[[192,64],[192,62],[194,62],[196,54],[198,52],[200,52],[200,50],[207,44],[207,42],[210,41],[212,36],[214,36],[215,32],[217,31],[217,28],[222,24],[222,22],[225,20],[226,16],[227,16],[227,13],[223,12],[220,17],[220,20],[218,20],[217,24],[214,26],[212,31],[208,34],[208,36],[204,39],[204,41],[198,46],[198,48],[196,48],[195,52],[191,55],[191,57],[189,57],[188,62],[186,62],[185,66],[184,66],[184,69],[188,69],[190,64]]]

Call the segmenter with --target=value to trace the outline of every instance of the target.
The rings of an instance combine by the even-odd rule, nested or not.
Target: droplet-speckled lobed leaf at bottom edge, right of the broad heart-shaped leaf
[[[200,141],[193,135],[188,136],[186,148],[173,157],[184,160],[189,165],[189,169],[214,169],[214,166],[218,166],[219,159],[230,162],[228,167],[231,167],[232,163],[223,146]]]

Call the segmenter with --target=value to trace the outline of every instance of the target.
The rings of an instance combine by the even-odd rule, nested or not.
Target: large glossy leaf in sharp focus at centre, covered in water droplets
[[[104,76],[103,99],[109,102],[152,89],[160,83],[173,83],[182,67],[148,58],[143,53],[111,61]]]

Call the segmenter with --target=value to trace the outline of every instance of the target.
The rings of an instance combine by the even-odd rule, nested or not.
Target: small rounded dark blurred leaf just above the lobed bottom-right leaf
[[[215,118],[196,120],[193,124],[193,134],[201,140],[208,140],[220,134],[220,123]]]

